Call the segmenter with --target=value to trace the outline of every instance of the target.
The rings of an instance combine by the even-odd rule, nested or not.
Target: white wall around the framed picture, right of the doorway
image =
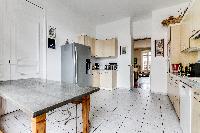
[[[169,16],[179,15],[178,11],[185,10],[188,3],[152,12],[152,63],[151,63],[151,91],[154,93],[167,93],[167,28],[161,25],[161,21]],[[165,56],[155,58],[155,40],[165,39]]]

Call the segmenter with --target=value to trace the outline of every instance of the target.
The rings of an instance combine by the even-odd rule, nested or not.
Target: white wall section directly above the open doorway
[[[132,34],[134,39],[150,38],[152,29],[152,19],[134,21],[132,23]]]

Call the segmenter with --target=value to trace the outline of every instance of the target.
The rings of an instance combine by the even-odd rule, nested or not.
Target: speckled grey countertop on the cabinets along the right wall
[[[194,89],[200,89],[200,77],[187,77],[170,73],[171,76],[178,78],[180,82],[183,82]]]

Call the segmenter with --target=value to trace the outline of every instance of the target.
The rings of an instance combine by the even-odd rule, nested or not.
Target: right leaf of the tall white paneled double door
[[[17,4],[11,26],[11,79],[40,78],[42,9],[26,1]]]

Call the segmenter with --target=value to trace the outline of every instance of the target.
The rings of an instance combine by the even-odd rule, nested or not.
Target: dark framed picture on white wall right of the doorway
[[[164,39],[155,40],[155,57],[157,56],[164,57]]]

